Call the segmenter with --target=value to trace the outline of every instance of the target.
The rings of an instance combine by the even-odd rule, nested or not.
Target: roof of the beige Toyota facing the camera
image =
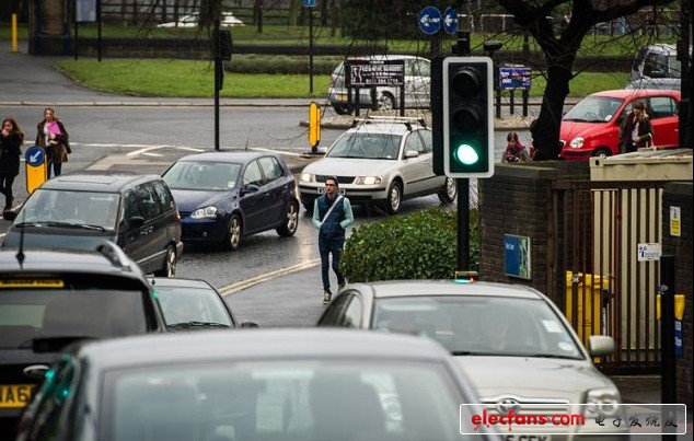
[[[393,280],[372,283],[356,283],[354,287],[368,286],[377,299],[419,295],[484,295],[517,299],[544,299],[533,288],[524,285],[509,285],[476,281],[460,283],[454,280]],[[365,291],[361,289],[360,291]]]

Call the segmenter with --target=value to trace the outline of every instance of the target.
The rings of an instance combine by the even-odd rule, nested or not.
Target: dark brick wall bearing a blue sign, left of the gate
[[[560,280],[554,276],[558,263],[547,259],[557,240],[553,229],[552,186],[559,179],[587,179],[588,164],[542,162],[495,167],[493,177],[479,179],[479,277],[532,286],[555,302],[560,301],[556,289]],[[505,275],[505,234],[530,237],[531,280]]]

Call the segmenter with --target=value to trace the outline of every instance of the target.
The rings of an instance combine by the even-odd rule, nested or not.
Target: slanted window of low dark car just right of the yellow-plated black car
[[[190,323],[232,326],[229,313],[211,289],[154,286],[166,325]]]

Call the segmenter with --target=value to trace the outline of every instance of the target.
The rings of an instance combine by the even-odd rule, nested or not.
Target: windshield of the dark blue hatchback
[[[169,188],[230,190],[236,186],[241,164],[229,162],[180,161],[162,178]]]

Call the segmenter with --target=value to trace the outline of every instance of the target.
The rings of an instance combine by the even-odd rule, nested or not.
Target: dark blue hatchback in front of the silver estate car
[[[239,249],[244,235],[288,237],[299,227],[297,182],[271,153],[216,152],[176,161],[162,178],[181,210],[183,240]]]

